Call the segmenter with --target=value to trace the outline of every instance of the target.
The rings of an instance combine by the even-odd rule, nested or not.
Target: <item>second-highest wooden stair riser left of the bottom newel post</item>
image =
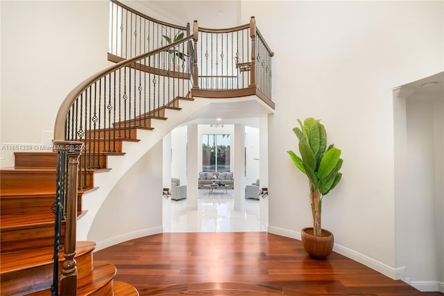
[[[92,188],[93,184],[92,172],[86,173],[86,184],[88,188]],[[81,174],[82,183],[85,173]],[[0,187],[2,191],[12,190],[35,190],[35,192],[56,192],[56,171],[50,172],[32,172],[32,171],[2,171],[0,172]]]

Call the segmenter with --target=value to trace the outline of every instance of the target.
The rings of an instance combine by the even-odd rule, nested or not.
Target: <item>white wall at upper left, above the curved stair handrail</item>
[[[110,63],[108,1],[0,1],[1,143],[51,146],[65,96]],[[13,155],[2,151],[0,166]]]

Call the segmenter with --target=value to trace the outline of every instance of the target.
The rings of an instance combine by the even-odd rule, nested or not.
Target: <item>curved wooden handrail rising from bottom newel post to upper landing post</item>
[[[54,141],[64,141],[65,140],[65,121],[67,118],[67,113],[71,105],[74,103],[76,98],[83,92],[87,87],[91,86],[94,82],[102,78],[103,76],[108,75],[112,71],[115,71],[119,68],[126,67],[130,64],[133,64],[137,60],[142,60],[143,58],[147,58],[150,55],[155,55],[156,53],[160,53],[162,51],[167,51],[169,48],[176,46],[178,44],[182,44],[183,42],[186,42],[187,40],[191,40],[193,38],[193,35],[189,35],[185,37],[182,40],[179,40],[178,42],[173,42],[171,44],[168,44],[166,46],[162,46],[159,49],[155,49],[153,51],[149,51],[148,53],[144,53],[142,55],[137,55],[137,57],[130,58],[128,60],[124,60],[122,62],[119,62],[117,64],[112,65],[111,67],[108,67],[102,71],[99,71],[95,73],[92,76],[89,76],[89,78],[83,80],[83,82],[80,82],[79,85],[74,87],[74,89],[69,92],[69,94],[66,96],[65,100],[62,102],[62,105],[60,105],[60,108],[58,110],[57,116],[56,116],[56,123],[54,125]]]

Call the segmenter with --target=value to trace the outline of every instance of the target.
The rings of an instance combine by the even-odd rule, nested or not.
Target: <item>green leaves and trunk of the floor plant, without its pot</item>
[[[295,166],[308,177],[314,236],[321,236],[322,199],[341,181],[341,150],[334,148],[333,144],[327,148],[327,132],[320,120],[309,117],[304,123],[300,119],[298,122],[300,128],[293,128],[293,132],[299,139],[300,157],[292,150],[287,153]]]

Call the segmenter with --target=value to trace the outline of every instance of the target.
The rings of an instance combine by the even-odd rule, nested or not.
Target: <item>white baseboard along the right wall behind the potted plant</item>
[[[295,232],[289,229],[283,229],[279,227],[268,226],[268,232],[271,234],[277,234],[280,236],[286,236],[289,238],[295,238],[300,241],[300,232]],[[343,247],[342,245],[334,244],[333,251],[339,253],[343,256],[346,256],[354,261],[357,261],[361,264],[366,265],[377,272],[382,273],[383,275],[390,277],[391,279],[402,279],[404,275],[404,267],[401,268],[393,268],[391,266],[386,265],[385,263],[379,262],[369,256],[356,252],[354,250],[349,249],[348,247]]]

